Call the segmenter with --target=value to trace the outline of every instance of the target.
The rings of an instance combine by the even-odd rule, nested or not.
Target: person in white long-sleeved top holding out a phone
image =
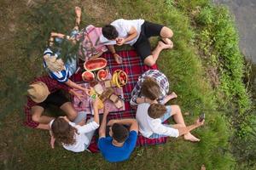
[[[162,124],[171,116],[177,124]],[[166,136],[177,138],[183,135],[185,140],[198,142],[200,139],[195,138],[190,131],[204,124],[204,120],[200,122],[198,119],[194,124],[186,126],[178,105],[139,104],[136,119],[139,124],[139,132],[149,139]]]

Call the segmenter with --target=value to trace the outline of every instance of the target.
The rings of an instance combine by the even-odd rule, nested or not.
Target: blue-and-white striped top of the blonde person
[[[49,56],[54,56],[54,54],[49,48],[44,51],[44,55],[48,54]],[[47,68],[46,62],[43,63],[44,68]],[[64,70],[62,71],[49,71],[49,77],[55,79],[58,82],[67,82],[68,78],[71,77],[71,72],[69,66],[64,65]]]

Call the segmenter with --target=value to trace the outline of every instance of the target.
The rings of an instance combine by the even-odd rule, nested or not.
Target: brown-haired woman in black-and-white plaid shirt
[[[158,70],[149,70],[138,78],[135,88],[131,92],[131,105],[141,103],[160,103],[165,105],[170,99],[177,98],[177,95],[169,92],[167,77]]]

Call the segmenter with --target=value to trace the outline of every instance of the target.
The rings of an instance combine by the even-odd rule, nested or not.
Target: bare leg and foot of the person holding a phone
[[[172,108],[173,119],[177,123],[176,125],[173,125],[172,127],[186,127],[180,107],[178,105],[171,105],[171,108]],[[200,139],[195,138],[195,136],[192,135],[191,133],[184,134],[183,138],[185,140],[189,140],[192,142],[200,141]]]

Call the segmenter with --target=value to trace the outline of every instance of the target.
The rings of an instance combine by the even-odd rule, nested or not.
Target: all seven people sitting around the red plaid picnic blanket
[[[87,113],[74,110],[67,94],[79,99],[90,94],[90,88],[83,88],[70,80],[77,71],[77,59],[70,59],[64,63],[58,58],[58,53],[50,48],[53,42],[61,42],[64,38],[74,43],[79,41],[81,31],[79,23],[81,8],[75,8],[76,26],[71,36],[52,32],[49,38],[49,48],[44,51],[44,68],[47,76],[36,78],[27,90],[27,104],[25,106],[26,125],[29,127],[49,130],[51,147],[55,141],[66,150],[81,152],[87,150],[93,135],[97,131],[97,144],[102,156],[110,161],[125,161],[131,155],[137,143],[138,132],[145,138],[179,137],[189,141],[199,141],[190,133],[196,127],[204,124],[199,119],[194,124],[186,126],[182,112],[178,105],[166,105],[170,99],[177,98],[177,94],[169,93],[169,82],[166,76],[158,70],[148,70],[138,78],[131,93],[130,104],[137,109],[136,119],[120,119],[108,121],[108,108],[104,108],[100,121],[98,99],[93,101],[94,115],[86,122]],[[115,20],[110,25],[99,29],[102,34],[100,43],[107,45],[117,63],[121,64],[121,57],[115,53],[113,45],[130,44],[137,50],[145,65],[154,65],[160,51],[172,48],[172,30],[166,26],[150,23],[145,20]],[[148,37],[160,36],[157,47],[151,52]],[[102,47],[103,47],[102,46]],[[101,48],[104,52],[104,48]],[[101,53],[91,54],[88,59],[99,57]],[[83,91],[78,94],[74,89]],[[66,116],[45,116],[43,112],[49,105],[55,105],[66,113]],[[176,124],[165,124],[169,117],[173,117]],[[107,128],[109,127],[109,128]]]

